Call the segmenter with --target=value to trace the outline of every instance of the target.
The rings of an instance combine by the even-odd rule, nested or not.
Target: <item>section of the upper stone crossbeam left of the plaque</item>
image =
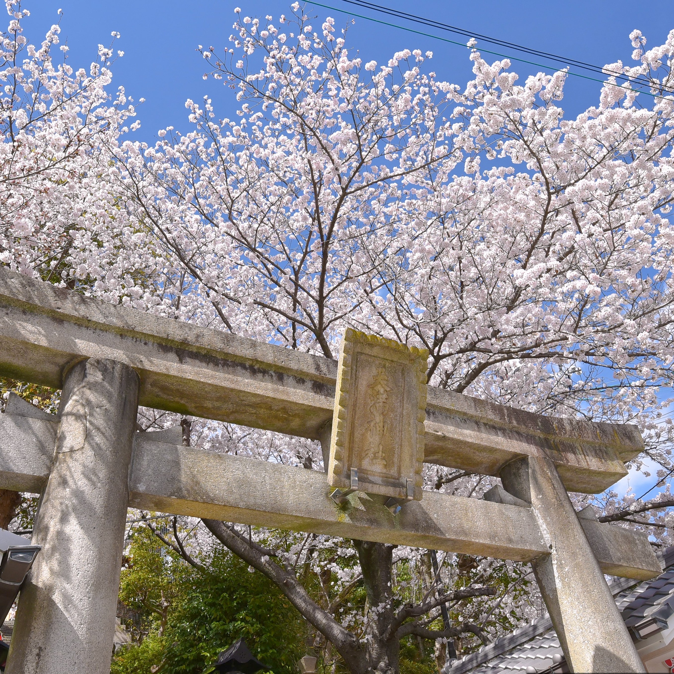
[[[0,376],[61,388],[84,358],[131,365],[140,404],[303,437],[332,419],[337,363],[82,297],[0,268]]]

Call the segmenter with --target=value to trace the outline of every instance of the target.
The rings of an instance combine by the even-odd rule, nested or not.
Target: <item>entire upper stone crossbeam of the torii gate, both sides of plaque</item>
[[[53,388],[95,357],[131,365],[142,405],[321,437],[336,361],[82,297],[0,268],[0,376]],[[425,461],[497,475],[549,456],[570,491],[598,493],[643,449],[635,426],[551,419],[429,387]]]

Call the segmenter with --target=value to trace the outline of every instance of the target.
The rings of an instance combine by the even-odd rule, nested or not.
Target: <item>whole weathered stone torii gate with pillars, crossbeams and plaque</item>
[[[0,375],[63,389],[57,416],[11,396],[0,417],[0,488],[41,495],[7,672],[109,671],[129,506],[530,561],[574,671],[644,671],[603,574],[660,565],[567,494],[623,477],[638,429],[427,387],[424,361],[348,331],[337,363],[0,269]],[[328,474],[137,433],[138,404],[319,439]],[[423,491],[423,462],[503,487]]]

